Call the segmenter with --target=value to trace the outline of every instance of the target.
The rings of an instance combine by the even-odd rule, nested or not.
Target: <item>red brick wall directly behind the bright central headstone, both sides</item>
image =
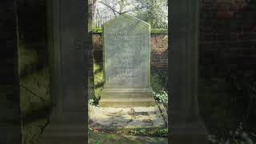
[[[168,69],[168,35],[151,34],[151,73]],[[93,35],[94,62],[102,64],[102,34]]]

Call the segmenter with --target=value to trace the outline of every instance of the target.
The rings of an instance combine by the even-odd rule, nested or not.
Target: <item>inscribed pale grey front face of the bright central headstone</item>
[[[148,27],[132,21],[126,22],[129,24],[127,27],[114,26],[121,25],[120,23],[104,27],[106,83],[114,86],[145,87],[150,55]],[[130,30],[130,26],[134,29]]]

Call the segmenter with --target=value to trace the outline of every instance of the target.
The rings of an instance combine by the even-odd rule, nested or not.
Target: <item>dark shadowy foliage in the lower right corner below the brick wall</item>
[[[238,66],[227,67],[225,78],[205,78],[204,88],[199,90],[201,114],[214,135],[210,136],[212,143],[255,141],[251,131],[256,130],[256,75],[254,71],[238,70]],[[239,122],[243,128],[238,126]]]

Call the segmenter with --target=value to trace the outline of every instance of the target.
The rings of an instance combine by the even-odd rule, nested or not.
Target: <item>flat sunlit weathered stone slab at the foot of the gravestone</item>
[[[158,106],[98,107],[90,106],[90,127],[94,129],[164,128],[166,122]]]

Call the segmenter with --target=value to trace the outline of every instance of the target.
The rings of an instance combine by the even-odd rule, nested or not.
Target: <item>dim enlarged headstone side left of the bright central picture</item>
[[[86,5],[48,1],[50,95],[54,107],[41,144],[86,143]]]

